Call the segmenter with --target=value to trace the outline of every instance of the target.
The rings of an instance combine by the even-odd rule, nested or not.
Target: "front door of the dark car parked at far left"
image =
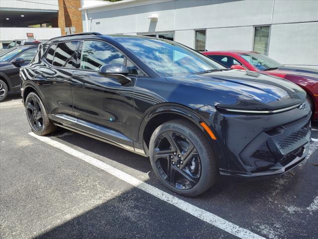
[[[21,54],[19,54],[18,56],[16,56],[12,61],[11,64],[14,66],[11,69],[11,72],[8,73],[8,75],[10,75],[11,77],[11,85],[12,88],[18,88],[20,85],[20,77],[19,77],[19,71],[20,71],[20,67],[26,66],[28,65],[31,60],[33,59],[35,53],[36,53],[37,49],[36,48],[32,48],[30,50],[24,51]],[[23,63],[14,63],[16,60],[23,60]]]

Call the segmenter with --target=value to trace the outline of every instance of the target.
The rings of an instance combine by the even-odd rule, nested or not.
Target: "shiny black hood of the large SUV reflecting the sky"
[[[306,99],[306,92],[296,84],[251,71],[218,71],[167,80],[203,88],[209,91],[210,105],[233,109],[276,110]]]

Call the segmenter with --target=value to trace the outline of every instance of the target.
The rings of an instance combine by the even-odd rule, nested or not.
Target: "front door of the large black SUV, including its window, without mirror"
[[[132,147],[134,85],[139,69],[117,48],[100,40],[83,40],[79,65],[72,77],[74,115],[83,130]],[[120,63],[132,74],[129,84],[98,73],[101,66]]]

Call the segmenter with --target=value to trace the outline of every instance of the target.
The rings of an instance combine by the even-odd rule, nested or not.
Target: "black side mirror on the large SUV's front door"
[[[108,64],[99,68],[99,74],[112,77],[116,79],[120,84],[126,85],[131,82],[131,79],[127,77],[129,70],[123,64]]]

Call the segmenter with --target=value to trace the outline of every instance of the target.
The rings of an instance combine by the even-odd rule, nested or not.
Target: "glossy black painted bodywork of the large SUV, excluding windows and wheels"
[[[200,123],[205,122],[217,137],[215,141],[204,131],[218,156],[222,174],[281,174],[306,157],[311,112],[306,92],[297,85],[239,70],[162,78],[116,41],[121,37],[129,36],[66,36],[45,43],[34,61],[21,70],[23,99],[28,92],[36,91],[57,125],[142,155],[148,154],[145,135],[156,119],[163,122],[182,117],[203,131]],[[108,42],[145,74],[128,75],[131,82],[121,84],[109,75],[79,69],[79,51],[74,55],[76,64],[69,69],[43,60],[50,44],[84,39]],[[225,114],[218,110],[276,110],[302,103],[302,109],[273,115]],[[292,126],[284,128],[290,122],[294,122]],[[282,140],[298,132],[300,139],[280,148]]]

